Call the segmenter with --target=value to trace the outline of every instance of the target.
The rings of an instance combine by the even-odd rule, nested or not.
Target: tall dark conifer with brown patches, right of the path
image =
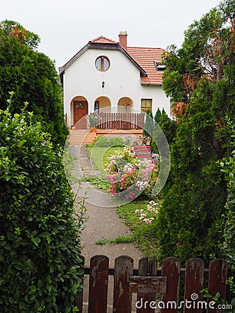
[[[183,47],[171,47],[165,57],[163,88],[175,107],[187,109],[177,111],[176,136],[170,138],[171,172],[156,228],[161,259],[225,257],[222,229],[231,219],[227,224],[227,184],[218,161],[232,152],[226,117],[234,125],[235,24],[227,6],[234,0],[224,3],[227,13],[216,8],[194,22]],[[231,234],[228,226],[230,244]]]

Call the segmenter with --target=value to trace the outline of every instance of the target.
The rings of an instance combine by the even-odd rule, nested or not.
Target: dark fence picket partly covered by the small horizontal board
[[[152,259],[151,261],[148,261],[147,257],[142,257],[139,260],[138,264],[138,275],[139,276],[156,276],[157,275],[157,262],[156,259]],[[154,301],[156,303],[156,294],[142,294],[138,293],[137,294],[137,301],[140,301],[142,298],[143,303],[147,301],[148,305],[145,306],[143,305],[141,309],[137,309],[137,313],[153,313],[155,312],[154,309],[151,309],[149,307],[149,303]]]

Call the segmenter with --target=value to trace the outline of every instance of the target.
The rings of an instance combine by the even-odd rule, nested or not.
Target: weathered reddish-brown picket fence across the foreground
[[[89,313],[107,312],[108,276],[113,275],[113,312],[131,313],[131,298],[137,293],[136,312],[221,312],[213,308],[211,299],[206,300],[200,292],[208,287],[214,296],[218,291],[221,298],[227,292],[227,262],[215,259],[209,268],[204,268],[202,259],[189,259],[186,268],[181,268],[179,259],[169,257],[163,260],[161,268],[156,259],[148,261],[146,257],[139,260],[138,268],[133,268],[133,259],[120,256],[115,259],[115,268],[109,268],[109,259],[104,255],[95,255],[90,259],[90,268],[84,268],[89,276]],[[179,301],[179,282],[184,280],[184,300]],[[206,283],[205,286],[205,280]],[[156,294],[161,294],[156,302]],[[76,305],[82,312],[83,294],[79,294]],[[210,307],[212,306],[212,307]],[[206,309],[206,310],[205,310]]]

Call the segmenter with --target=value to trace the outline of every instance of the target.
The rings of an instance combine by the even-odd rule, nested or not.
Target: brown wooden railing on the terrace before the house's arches
[[[143,129],[144,113],[96,113],[98,129]]]

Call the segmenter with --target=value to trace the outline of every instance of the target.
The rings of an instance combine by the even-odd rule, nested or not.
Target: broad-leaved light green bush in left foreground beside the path
[[[0,111],[1,313],[72,312],[84,207],[76,219],[63,154],[32,120]]]

